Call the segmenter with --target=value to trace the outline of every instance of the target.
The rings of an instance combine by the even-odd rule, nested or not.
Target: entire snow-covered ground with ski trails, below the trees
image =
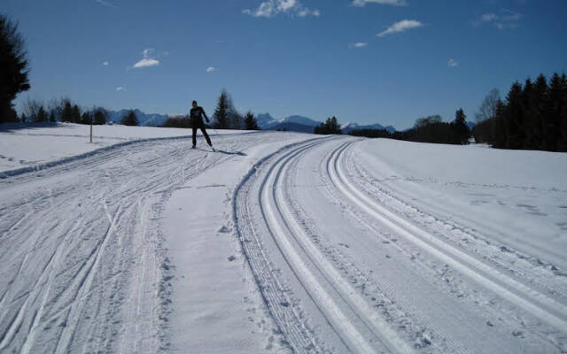
[[[567,351],[567,154],[62,128],[0,133],[2,353]]]

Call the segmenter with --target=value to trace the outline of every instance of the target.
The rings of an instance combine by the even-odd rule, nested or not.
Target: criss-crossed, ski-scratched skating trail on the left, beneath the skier
[[[224,135],[220,147],[257,139]],[[159,138],[2,173],[0,352],[167,350],[161,211],[177,187],[229,158]]]

